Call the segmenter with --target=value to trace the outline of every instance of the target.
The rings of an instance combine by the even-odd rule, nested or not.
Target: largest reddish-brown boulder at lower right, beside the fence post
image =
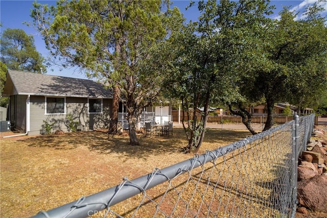
[[[327,212],[327,175],[305,179],[297,183],[299,203],[316,212]]]

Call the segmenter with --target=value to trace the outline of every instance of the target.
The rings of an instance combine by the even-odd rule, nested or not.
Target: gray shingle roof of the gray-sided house
[[[8,79],[12,81],[14,94],[112,98],[111,89],[105,89],[102,84],[92,80],[35,74],[16,70],[9,70],[8,75],[7,82]],[[4,94],[10,94],[8,92],[12,91],[9,91],[8,87],[5,87]]]

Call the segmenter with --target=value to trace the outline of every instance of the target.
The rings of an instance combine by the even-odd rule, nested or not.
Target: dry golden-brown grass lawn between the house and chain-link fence
[[[249,136],[245,130],[208,129],[199,151]],[[28,217],[193,157],[182,154],[182,128],[170,137],[129,137],[105,131],[1,138],[1,217]]]

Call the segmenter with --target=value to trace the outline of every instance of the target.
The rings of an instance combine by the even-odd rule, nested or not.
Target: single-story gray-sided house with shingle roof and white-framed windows
[[[3,96],[10,97],[11,126],[29,135],[44,133],[44,121],[66,132],[69,117],[81,130],[105,128],[110,120],[112,91],[92,80],[9,70]]]

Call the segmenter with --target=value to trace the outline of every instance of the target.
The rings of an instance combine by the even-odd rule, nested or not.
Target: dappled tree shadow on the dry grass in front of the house
[[[206,141],[219,143],[226,138],[228,141],[239,140],[246,137],[246,132],[232,130],[208,129]],[[106,130],[65,133],[63,135],[40,135],[24,139],[30,147],[48,147],[58,150],[69,150],[86,147],[91,151],[103,154],[122,154],[130,157],[147,158],[150,155],[173,154],[181,152],[187,140],[182,128],[174,128],[172,136],[145,137],[137,134],[139,146],[130,146],[128,131],[122,135],[109,135]],[[217,145],[219,147],[219,144]]]

